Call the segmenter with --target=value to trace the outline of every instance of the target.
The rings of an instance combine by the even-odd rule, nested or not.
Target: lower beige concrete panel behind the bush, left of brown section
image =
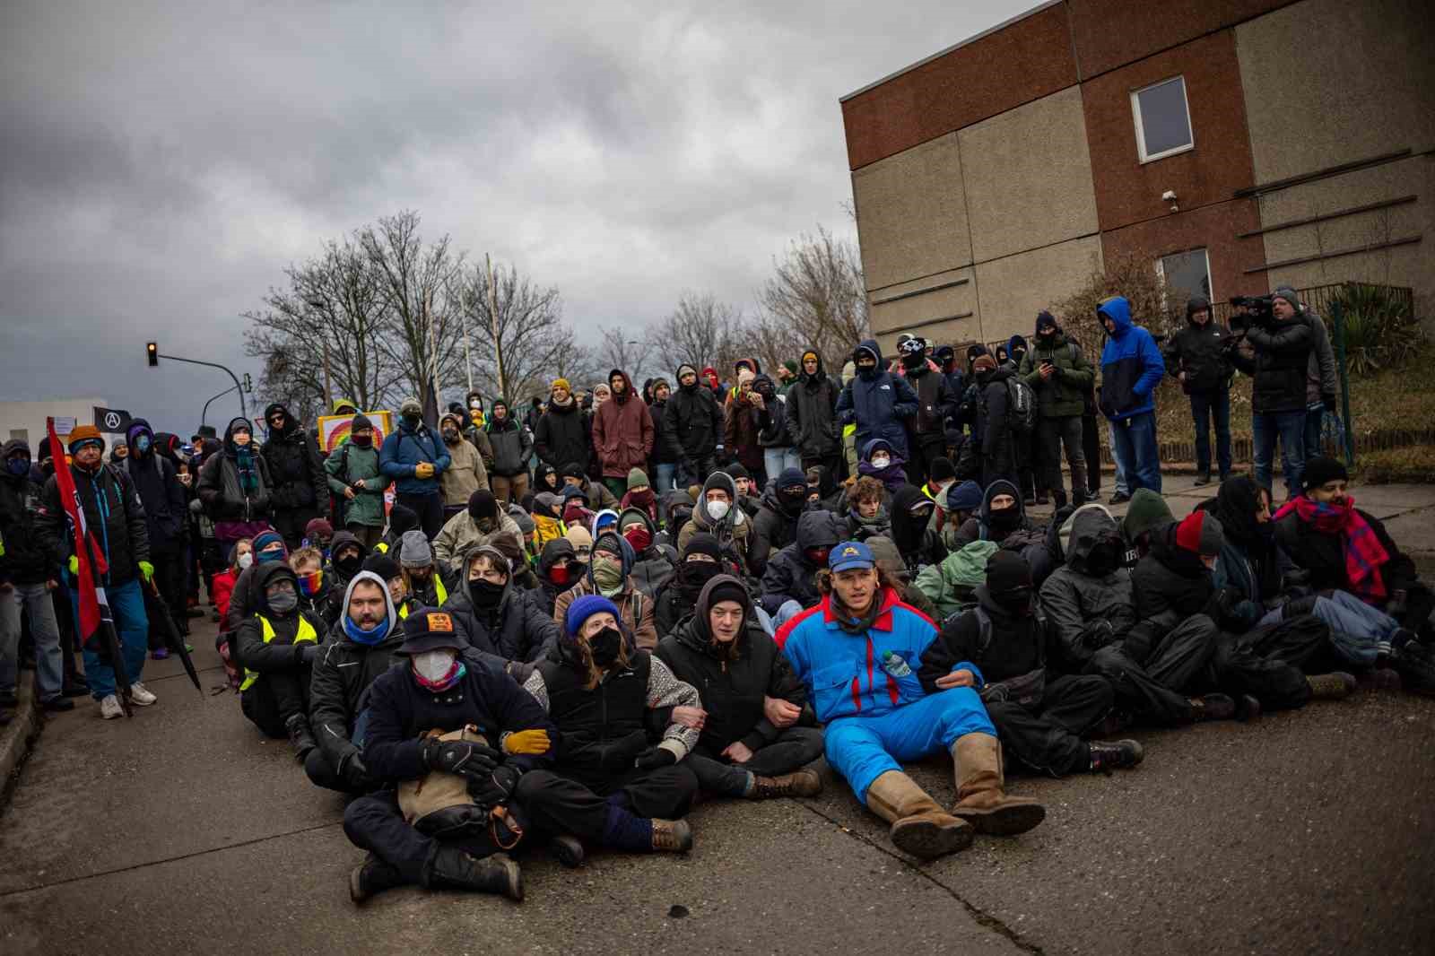
[[[1101,268],[1101,237],[977,264],[977,301],[983,342],[1032,334],[1036,313],[1072,294]]]

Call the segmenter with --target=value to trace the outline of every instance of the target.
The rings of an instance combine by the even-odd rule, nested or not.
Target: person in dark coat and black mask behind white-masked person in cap
[[[462,584],[441,610],[458,620],[474,653],[522,683],[531,665],[557,646],[558,626],[514,587],[511,567],[491,544],[466,553]]]

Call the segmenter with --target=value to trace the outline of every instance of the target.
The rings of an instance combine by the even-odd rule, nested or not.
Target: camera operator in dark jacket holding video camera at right
[[[1233,300],[1233,304],[1240,304]],[[1296,293],[1281,286],[1269,299],[1247,299],[1247,316],[1233,316],[1231,326],[1244,334],[1228,339],[1231,365],[1250,375],[1251,439],[1256,452],[1256,482],[1271,487],[1271,461],[1280,439],[1281,475],[1286,497],[1300,494],[1306,464],[1306,369],[1310,362],[1310,323],[1300,314]],[[1247,349],[1237,347],[1244,340]]]

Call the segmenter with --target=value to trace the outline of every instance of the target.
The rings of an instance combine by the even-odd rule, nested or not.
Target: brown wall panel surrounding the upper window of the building
[[[1195,149],[1142,165],[1131,92],[1177,75],[1185,78]],[[1167,189],[1175,189],[1182,210],[1192,210],[1251,185],[1246,100],[1231,30],[1082,83],[1082,106],[1102,230],[1165,215],[1170,204],[1161,194]]]

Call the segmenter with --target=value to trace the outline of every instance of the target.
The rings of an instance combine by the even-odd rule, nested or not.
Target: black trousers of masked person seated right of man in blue
[[[1091,767],[1091,751],[1081,735],[1101,723],[1116,692],[1099,675],[1062,676],[1046,682],[1033,705],[1016,700],[987,702],[1002,746],[1032,769],[1065,777]]]

